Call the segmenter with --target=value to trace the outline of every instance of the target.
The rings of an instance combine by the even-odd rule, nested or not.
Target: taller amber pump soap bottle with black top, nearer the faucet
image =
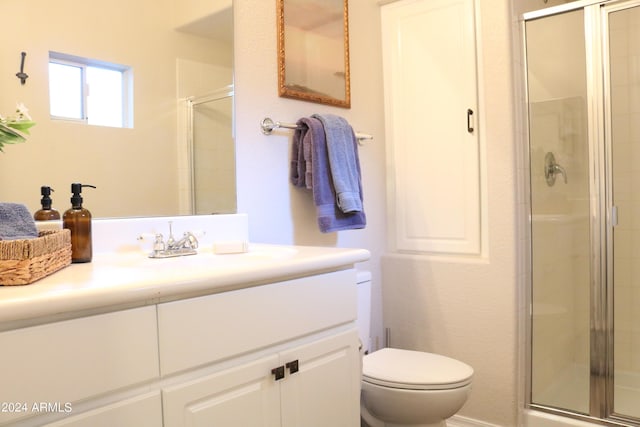
[[[93,185],[71,184],[71,208],[62,216],[62,226],[71,231],[71,262],[91,262],[93,246],[91,243],[91,212],[82,207],[82,187],[96,188]]]

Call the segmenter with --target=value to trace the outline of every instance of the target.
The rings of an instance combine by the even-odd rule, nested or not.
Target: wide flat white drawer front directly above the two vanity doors
[[[158,306],[168,375],[356,319],[356,272],[343,270]]]

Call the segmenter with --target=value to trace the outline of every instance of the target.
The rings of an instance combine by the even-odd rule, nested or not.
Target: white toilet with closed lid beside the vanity
[[[360,416],[368,427],[446,427],[471,392],[473,368],[433,353],[371,346],[371,273],[358,273],[363,346]]]

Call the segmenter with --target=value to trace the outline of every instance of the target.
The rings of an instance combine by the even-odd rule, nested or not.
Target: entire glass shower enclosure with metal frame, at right
[[[526,13],[528,404],[640,426],[640,1]]]

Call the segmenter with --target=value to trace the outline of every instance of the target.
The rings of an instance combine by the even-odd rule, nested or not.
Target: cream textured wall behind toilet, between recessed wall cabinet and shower
[[[482,257],[389,254],[383,258],[384,323],[393,346],[431,351],[475,369],[460,415],[517,425],[518,289],[515,112],[510,10],[477,2]],[[446,177],[438,185],[446,185]]]

